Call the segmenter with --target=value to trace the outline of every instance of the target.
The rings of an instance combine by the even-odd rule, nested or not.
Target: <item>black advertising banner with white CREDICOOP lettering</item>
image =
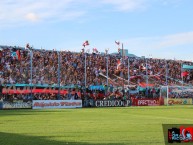
[[[131,100],[97,100],[96,107],[126,107],[131,106]]]

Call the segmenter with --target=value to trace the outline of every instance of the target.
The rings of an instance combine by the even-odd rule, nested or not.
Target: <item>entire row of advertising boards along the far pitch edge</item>
[[[168,103],[167,103],[168,101]],[[192,98],[134,98],[127,100],[33,100],[0,101],[0,109],[61,109],[87,107],[130,107],[161,105],[192,105]]]

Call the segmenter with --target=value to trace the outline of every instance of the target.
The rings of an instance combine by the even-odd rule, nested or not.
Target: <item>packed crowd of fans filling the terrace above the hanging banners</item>
[[[107,58],[109,85],[128,85],[128,57],[126,56],[122,57],[120,54],[107,55],[95,52],[84,53],[84,51],[79,53],[60,51],[58,53],[55,50],[25,49],[11,46],[0,47],[0,84],[31,83],[30,52],[33,54],[32,84],[57,85],[59,77],[58,72],[60,72],[61,86],[84,86],[86,55],[87,87],[91,85],[107,85]],[[145,83],[148,74],[149,84],[153,84],[154,86],[167,85],[167,74],[168,85],[179,85],[182,83],[182,64],[193,65],[192,62],[178,60],[145,59],[139,57],[129,58],[129,83],[136,86]],[[58,66],[60,67],[58,68]],[[193,71],[186,71],[183,75],[183,83],[193,84]],[[149,92],[149,94],[151,93]],[[154,93],[154,96],[155,94],[156,93]],[[48,97],[36,94],[34,96],[36,99],[56,98],[56,95],[48,95]],[[67,98],[66,96],[61,97],[62,99]]]

